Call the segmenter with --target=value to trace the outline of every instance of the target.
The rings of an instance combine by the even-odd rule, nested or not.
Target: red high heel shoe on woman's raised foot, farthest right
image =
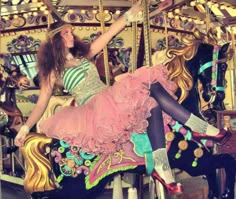
[[[201,142],[201,140],[212,140],[218,145],[225,144],[230,139],[231,136],[232,136],[232,133],[229,130],[225,130],[225,129],[221,129],[220,132],[215,136],[192,132],[193,140],[197,142]]]

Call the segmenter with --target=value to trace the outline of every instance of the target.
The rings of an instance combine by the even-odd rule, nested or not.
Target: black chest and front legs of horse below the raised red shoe
[[[179,159],[175,158],[175,154],[179,150],[178,143],[183,139],[184,138],[180,133],[176,133],[176,137],[171,143],[171,147],[168,151],[171,168],[181,169],[186,171],[191,176],[205,175],[209,185],[209,198],[219,194],[216,169],[224,168],[226,173],[226,182],[225,193],[222,195],[222,198],[233,199],[236,173],[236,162],[234,158],[230,154],[213,155],[204,150],[203,156],[198,160],[198,165],[196,167],[192,167],[192,161],[194,160],[193,153],[198,147],[195,142],[189,141],[188,149],[181,153],[181,157]]]

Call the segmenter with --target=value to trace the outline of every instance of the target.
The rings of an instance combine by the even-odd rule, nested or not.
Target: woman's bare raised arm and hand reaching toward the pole
[[[129,15],[136,16],[142,10],[140,2],[135,3],[129,9]],[[109,29],[99,36],[95,41],[91,43],[88,58],[92,59],[96,54],[98,54],[109,42],[117,35],[121,30],[125,28],[127,24],[127,15],[122,15],[117,21],[115,21]]]

